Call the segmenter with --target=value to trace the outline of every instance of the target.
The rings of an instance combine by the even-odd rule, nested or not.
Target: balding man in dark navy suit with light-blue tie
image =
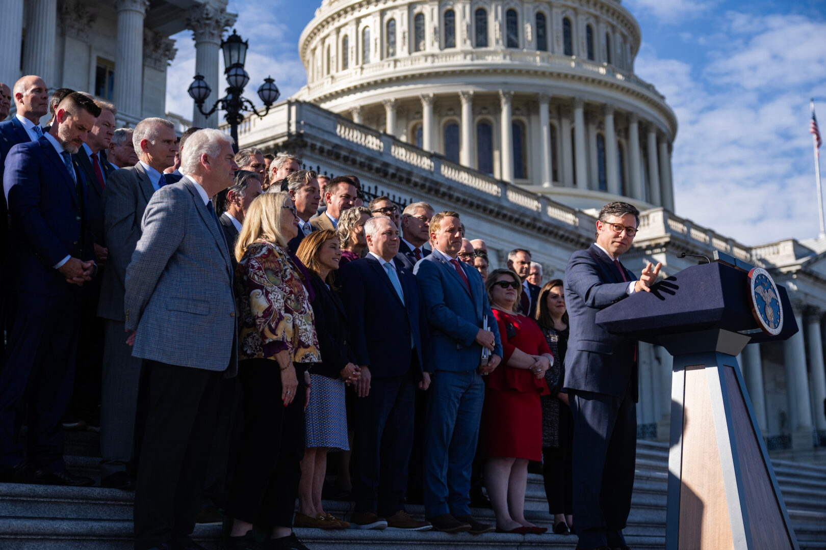
[[[407,465],[413,447],[415,388],[426,390],[432,369],[427,320],[413,274],[394,261],[399,231],[387,216],[364,224],[368,256],[341,270],[355,362],[356,529],[427,530],[405,511]],[[387,518],[387,519],[385,519]]]

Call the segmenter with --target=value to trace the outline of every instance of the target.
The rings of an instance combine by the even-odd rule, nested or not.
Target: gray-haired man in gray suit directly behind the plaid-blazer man
[[[140,220],[156,190],[165,185],[164,168],[174,162],[175,125],[169,120],[141,120],[132,135],[140,151],[135,166],[112,172],[103,190],[103,234],[108,251],[97,315],[105,319],[101,399],[101,486],[134,488],[126,472],[133,454],[138,384],[142,361],[126,346],[123,313],[126,266],[140,239]]]

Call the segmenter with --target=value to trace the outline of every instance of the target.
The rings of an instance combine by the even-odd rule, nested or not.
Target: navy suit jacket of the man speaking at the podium
[[[627,280],[637,279],[623,270]],[[565,388],[620,397],[628,392],[637,401],[637,342],[614,336],[596,324],[596,313],[626,298],[628,286],[596,244],[571,255],[565,268],[565,306],[571,327]]]

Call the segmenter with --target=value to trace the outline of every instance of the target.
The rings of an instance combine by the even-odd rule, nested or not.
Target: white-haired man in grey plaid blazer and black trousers
[[[126,330],[144,359],[145,431],[135,483],[135,550],[202,548],[189,535],[220,396],[238,369],[230,251],[210,197],[232,185],[231,139],[198,130],[181,181],[146,206],[126,268]]]

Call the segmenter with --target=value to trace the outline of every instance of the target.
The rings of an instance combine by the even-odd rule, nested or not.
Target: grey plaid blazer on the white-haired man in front
[[[146,206],[126,268],[126,330],[136,331],[135,357],[233,376],[238,317],[230,251],[196,186],[183,177]]]

